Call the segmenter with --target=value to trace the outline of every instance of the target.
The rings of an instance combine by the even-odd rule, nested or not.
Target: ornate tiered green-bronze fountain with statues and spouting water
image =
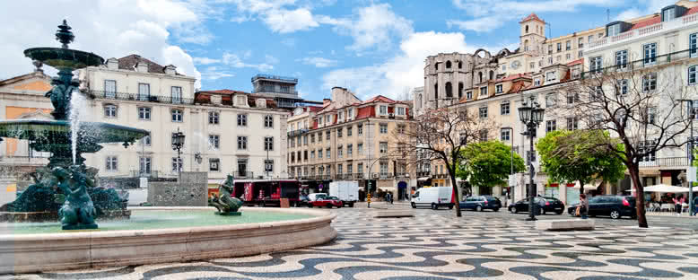
[[[82,153],[97,153],[104,143],[122,143],[124,147],[148,136],[143,129],[107,123],[82,121],[71,117],[71,100],[79,82],[73,71],[100,66],[104,59],[95,54],[68,48],[74,40],[65,20],[58,25],[56,39],[61,48],[28,48],[24,56],[35,64],[58,69],[58,77],[46,92],[54,110],[54,120],[22,119],[0,121],[2,138],[30,140],[31,149],[50,152],[48,166],[31,173],[34,184],[13,202],[2,206],[0,221],[40,222],[60,218],[64,230],[96,229],[98,216],[127,216],[127,201],[113,188],[98,188],[97,170],[84,165]],[[73,121],[71,121],[73,120]]]

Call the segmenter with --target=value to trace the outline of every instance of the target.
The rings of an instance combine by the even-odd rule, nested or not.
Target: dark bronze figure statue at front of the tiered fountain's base
[[[80,165],[73,165],[68,171],[61,167],[52,170],[58,181],[58,188],[65,194],[65,203],[58,210],[64,230],[96,229],[96,215],[92,198],[87,187],[93,186]]]

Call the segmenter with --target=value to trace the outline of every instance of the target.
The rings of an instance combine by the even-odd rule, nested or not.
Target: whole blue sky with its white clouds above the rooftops
[[[39,1],[35,1],[39,2]],[[137,53],[201,77],[205,90],[251,91],[258,73],[299,78],[310,100],[332,86],[367,99],[401,98],[423,83],[423,59],[439,52],[516,48],[519,20],[537,13],[560,36],[611,20],[656,13],[667,0],[364,1],[364,0],[63,0],[7,1],[0,18],[13,38],[0,46],[0,78],[25,74],[23,48],[53,46],[62,17],[74,48],[102,57]],[[71,10],[77,9],[77,10]],[[80,13],[77,13],[79,11]],[[10,22],[13,22],[10,24]],[[198,85],[198,84],[197,84]]]

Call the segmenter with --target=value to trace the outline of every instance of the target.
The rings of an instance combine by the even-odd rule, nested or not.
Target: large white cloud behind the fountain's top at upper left
[[[185,34],[188,30],[209,34],[201,28],[202,4],[192,1],[5,1],[0,18],[18,28],[0,29],[0,38],[12,38],[0,44],[0,77],[31,72],[33,66],[22,55],[23,49],[57,47],[59,43],[53,34],[66,15],[75,34],[71,48],[91,51],[105,59],[138,54],[162,65],[173,64],[179,73],[200,79],[192,57],[171,43],[181,39],[173,34]],[[198,80],[196,87],[200,87]]]

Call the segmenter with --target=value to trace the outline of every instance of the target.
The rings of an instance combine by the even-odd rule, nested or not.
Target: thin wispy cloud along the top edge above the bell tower
[[[529,13],[574,12],[580,6],[615,7],[624,0],[452,0],[453,4],[471,16],[471,20],[447,20],[450,27],[464,31],[489,32],[504,23],[520,20]]]

